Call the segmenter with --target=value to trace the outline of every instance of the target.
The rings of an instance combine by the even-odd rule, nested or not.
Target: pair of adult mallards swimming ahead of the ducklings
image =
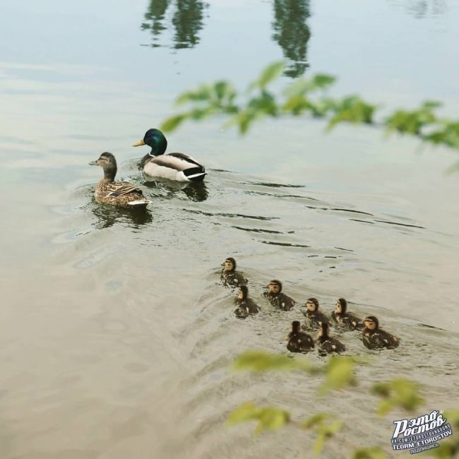
[[[147,181],[153,177],[176,181],[202,181],[206,175],[204,166],[186,153],[165,155],[167,140],[159,129],[148,129],[143,139],[133,144],[134,147],[140,145],[148,145],[151,148],[150,153],[147,153],[140,163]],[[97,203],[124,208],[145,208],[150,203],[138,186],[129,181],[115,181],[118,167],[112,153],[102,153],[97,160],[89,164],[100,166],[104,171],[104,178],[95,186],[94,197]]]

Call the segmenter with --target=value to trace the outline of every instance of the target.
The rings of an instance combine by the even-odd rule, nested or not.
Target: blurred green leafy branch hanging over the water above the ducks
[[[426,143],[459,150],[459,120],[438,117],[439,102],[423,102],[417,109],[399,109],[377,119],[381,105],[366,102],[357,95],[328,97],[326,90],[335,83],[335,77],[330,75],[318,73],[311,78],[299,78],[280,93],[269,90],[268,87],[280,77],[283,69],[283,62],[270,64],[242,93],[238,93],[228,81],[208,83],[182,93],[177,105],[188,105],[189,108],[166,119],[161,129],[174,131],[189,119],[199,121],[223,116],[228,118],[225,126],[237,126],[244,134],[255,121],[265,117],[309,114],[313,118],[328,119],[328,130],[340,123],[365,124],[382,127],[388,134],[403,133]]]

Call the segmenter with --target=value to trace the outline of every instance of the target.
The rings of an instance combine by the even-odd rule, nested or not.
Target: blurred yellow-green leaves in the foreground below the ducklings
[[[294,358],[285,354],[270,354],[263,351],[246,351],[236,357],[233,364],[235,370],[252,371],[301,371],[309,376],[323,376],[318,386],[318,394],[326,395],[328,391],[357,386],[355,370],[357,364],[369,363],[364,359],[349,356],[331,356],[326,364],[314,365],[306,358]],[[413,412],[424,405],[424,398],[419,394],[419,386],[407,379],[395,378],[383,383],[374,383],[371,392],[381,398],[376,406],[378,416],[386,415],[393,409],[401,408]],[[444,414],[453,429],[459,430],[459,410],[451,410]],[[342,429],[343,422],[333,413],[318,412],[299,422],[292,419],[290,413],[280,407],[259,407],[254,403],[244,403],[233,410],[228,418],[230,425],[240,422],[256,421],[256,434],[266,430],[276,430],[287,424],[300,429],[309,429],[316,435],[313,451],[321,453],[327,439]],[[459,437],[455,441],[445,441],[439,448],[429,453],[439,458],[453,458],[459,453]],[[386,454],[378,446],[360,448],[353,451],[353,459],[385,459]]]

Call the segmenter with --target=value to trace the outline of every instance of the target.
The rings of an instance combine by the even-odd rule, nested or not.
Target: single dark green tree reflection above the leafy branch
[[[297,78],[309,66],[306,54],[311,32],[306,24],[309,0],[274,0],[273,40],[280,44],[284,56],[292,63],[284,71]]]

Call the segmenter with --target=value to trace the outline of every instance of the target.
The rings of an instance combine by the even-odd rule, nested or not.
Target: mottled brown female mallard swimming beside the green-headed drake
[[[95,186],[94,197],[98,203],[118,205],[119,207],[145,207],[150,201],[144,198],[142,190],[129,181],[114,181],[117,175],[117,160],[112,153],[102,153],[90,166],[100,166],[104,178]]]

